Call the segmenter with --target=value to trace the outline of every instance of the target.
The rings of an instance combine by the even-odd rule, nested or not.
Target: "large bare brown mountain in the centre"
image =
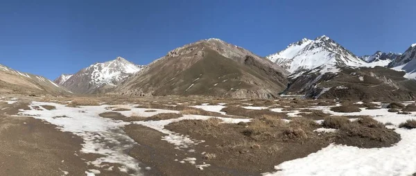
[[[113,94],[275,98],[288,72],[239,46],[205,39],[169,51]]]

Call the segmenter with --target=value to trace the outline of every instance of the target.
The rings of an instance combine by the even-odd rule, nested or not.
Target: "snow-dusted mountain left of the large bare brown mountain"
[[[140,71],[140,68],[135,64],[117,57],[115,60],[81,69],[64,81],[62,86],[77,94],[105,93],[137,71]]]

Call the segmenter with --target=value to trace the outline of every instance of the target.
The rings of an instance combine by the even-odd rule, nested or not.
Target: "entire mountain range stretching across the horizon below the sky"
[[[416,44],[403,54],[358,57],[326,35],[301,39],[265,58],[221,39],[203,39],[144,66],[117,57],[53,82],[1,66],[0,85],[51,94],[414,99]],[[0,74],[1,76],[1,74]],[[7,78],[7,79],[6,79]],[[24,82],[24,83],[22,83]],[[18,85],[19,85],[18,84]],[[380,96],[382,95],[382,96]]]

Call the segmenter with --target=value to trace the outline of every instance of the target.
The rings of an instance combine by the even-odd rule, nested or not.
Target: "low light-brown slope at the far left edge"
[[[24,73],[0,64],[0,92],[22,94],[71,94],[51,80],[31,73]]]

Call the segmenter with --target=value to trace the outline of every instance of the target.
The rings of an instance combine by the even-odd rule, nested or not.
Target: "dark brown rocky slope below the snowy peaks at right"
[[[337,73],[320,73],[318,68],[292,78],[284,94],[341,100],[415,100],[416,82],[404,75],[385,67],[341,67]]]

